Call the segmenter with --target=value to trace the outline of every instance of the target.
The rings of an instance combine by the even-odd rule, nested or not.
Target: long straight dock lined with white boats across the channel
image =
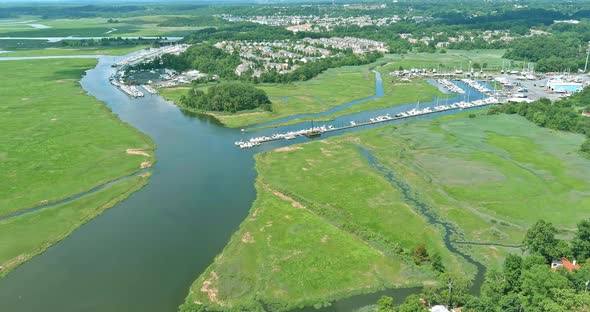
[[[351,121],[349,125],[341,126],[341,127],[335,127],[333,125],[328,125],[328,126],[322,125],[319,127],[312,126],[311,128],[308,128],[308,129],[289,131],[286,133],[275,133],[271,136],[253,137],[247,141],[236,141],[236,142],[234,142],[234,144],[241,149],[248,149],[248,148],[256,147],[261,144],[272,142],[272,141],[292,140],[292,139],[295,139],[295,138],[301,137],[301,136],[310,137],[310,138],[317,137],[323,133],[342,131],[342,130],[346,130],[346,129],[374,125],[374,124],[395,121],[395,120],[403,120],[403,119],[408,119],[410,117],[425,116],[425,115],[430,115],[430,114],[440,113],[440,112],[445,112],[445,111],[454,111],[454,110],[461,110],[461,109],[465,109],[465,108],[490,106],[490,105],[499,104],[499,103],[500,102],[496,98],[489,97],[489,98],[486,98],[483,100],[476,100],[473,102],[457,102],[457,103],[453,103],[450,105],[439,105],[439,106],[435,106],[433,108],[427,107],[427,108],[424,108],[421,110],[411,109],[406,112],[398,113],[395,116],[391,116],[390,114],[385,114],[382,116],[369,118],[368,121],[363,121],[363,122]]]

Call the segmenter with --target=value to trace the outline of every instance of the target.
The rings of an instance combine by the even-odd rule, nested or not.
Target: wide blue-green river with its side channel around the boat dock
[[[124,57],[100,57],[81,84],[123,121],[155,141],[157,163],[149,184],[1,279],[0,311],[175,311],[191,283],[248,214],[256,196],[253,154],[308,140],[300,137],[240,150],[234,141],[309,124],[243,134],[206,116],[182,112],[158,95],[131,99],[108,81],[115,70],[110,65]],[[381,79],[376,75],[377,93],[369,99],[382,95]],[[481,97],[471,90],[472,100]],[[434,104],[421,103],[421,107]],[[348,124],[414,106],[342,116],[326,124]],[[379,126],[383,125],[362,128]],[[325,310],[350,311],[374,303],[383,293],[400,302],[417,291],[409,288],[355,296]]]

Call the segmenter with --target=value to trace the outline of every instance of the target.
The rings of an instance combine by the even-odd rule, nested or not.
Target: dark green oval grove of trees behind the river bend
[[[271,102],[263,90],[251,84],[228,82],[211,86],[207,91],[193,87],[180,98],[183,106],[199,111],[235,113],[242,110],[261,108],[272,109]]]

